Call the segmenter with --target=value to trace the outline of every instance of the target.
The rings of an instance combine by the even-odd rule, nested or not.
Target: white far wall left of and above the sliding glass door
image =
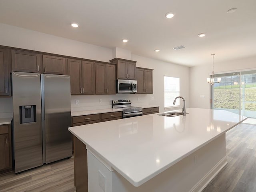
[[[226,62],[215,62],[215,60],[215,73],[255,70],[256,68],[256,56]],[[206,78],[211,72],[212,64],[189,68],[190,107],[210,108],[210,85],[207,83]],[[204,95],[204,98],[200,98],[201,95]]]

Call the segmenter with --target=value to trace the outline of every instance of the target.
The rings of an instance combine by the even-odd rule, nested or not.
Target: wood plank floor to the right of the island
[[[256,126],[240,124],[226,133],[228,164],[203,192],[256,192]]]

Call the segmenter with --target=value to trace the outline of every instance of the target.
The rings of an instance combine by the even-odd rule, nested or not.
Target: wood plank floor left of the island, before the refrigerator
[[[76,192],[73,158],[0,175],[0,192]]]

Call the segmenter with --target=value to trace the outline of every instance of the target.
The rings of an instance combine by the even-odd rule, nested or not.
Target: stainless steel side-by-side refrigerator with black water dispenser
[[[70,76],[12,72],[15,173],[72,156]]]

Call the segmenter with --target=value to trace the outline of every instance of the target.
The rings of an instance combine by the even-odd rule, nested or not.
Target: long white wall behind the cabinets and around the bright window
[[[62,54],[92,60],[109,62],[113,58],[113,50],[62,37],[52,36],[41,32],[27,30],[6,24],[0,24],[0,45],[49,52],[53,54]],[[119,49],[118,49],[119,50]],[[128,52],[128,51],[127,51]],[[126,52],[126,55],[127,55]],[[120,54],[119,54],[120,55]],[[184,96],[189,106],[189,88],[188,88],[188,67],[170,64],[131,54],[131,60],[137,61],[137,66],[152,68],[153,71],[153,92],[154,94],[116,94],[116,95],[88,95],[71,96],[72,111],[91,110],[100,108],[111,108],[112,99],[128,98],[134,105],[160,105],[160,111],[164,110],[164,75],[180,78],[180,95]],[[154,96],[154,100],[151,100]],[[139,98],[139,100],[138,100]],[[102,103],[99,100],[102,99]],[[0,98],[1,102],[6,99]],[[8,98],[7,98],[8,100]],[[11,100],[11,98],[9,98]],[[76,105],[76,100],[79,100]],[[0,105],[1,112],[12,112],[12,103],[8,101],[8,107]]]

